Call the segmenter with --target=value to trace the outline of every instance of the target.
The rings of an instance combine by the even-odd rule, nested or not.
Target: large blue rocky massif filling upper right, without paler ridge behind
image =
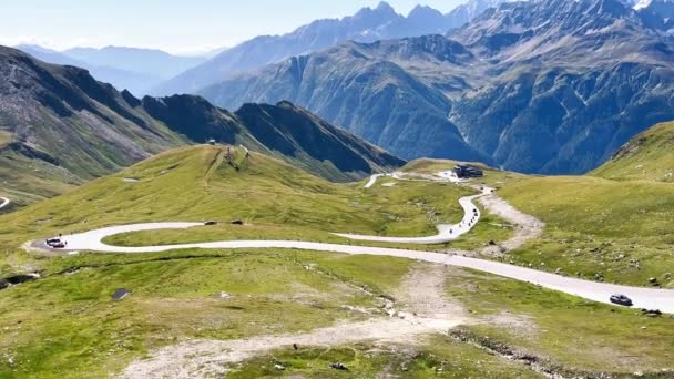
[[[674,119],[674,44],[655,4],[506,2],[447,35],[346,42],[200,93],[224,107],[289,100],[404,158],[584,173]]]

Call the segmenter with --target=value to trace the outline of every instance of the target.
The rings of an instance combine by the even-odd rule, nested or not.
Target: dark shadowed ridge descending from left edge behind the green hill
[[[85,70],[0,48],[0,176],[8,191],[52,196],[210,139],[335,181],[404,163],[287,102],[231,113],[193,95],[136,99]]]

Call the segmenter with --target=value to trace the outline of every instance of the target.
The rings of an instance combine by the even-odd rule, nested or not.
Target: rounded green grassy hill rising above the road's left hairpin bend
[[[195,240],[336,238],[328,232],[432,235],[438,223],[461,219],[457,201],[473,193],[420,182],[365,190],[362,183],[330,183],[263,154],[246,156],[243,148],[232,148],[231,154],[228,162],[224,146],[174,150],[9,214],[2,218],[7,227],[0,234],[0,246],[16,249],[28,239],[55,233],[161,221],[216,221],[222,225],[177,234],[145,232],[133,238],[135,243],[167,243],[185,234]],[[232,219],[249,225],[233,227],[228,225]],[[484,232],[491,228],[503,233],[489,226]]]

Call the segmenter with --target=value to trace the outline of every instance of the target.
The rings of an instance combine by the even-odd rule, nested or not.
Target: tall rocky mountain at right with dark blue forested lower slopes
[[[506,3],[449,37],[496,74],[450,120],[502,166],[583,173],[674,119],[672,43],[620,1]]]

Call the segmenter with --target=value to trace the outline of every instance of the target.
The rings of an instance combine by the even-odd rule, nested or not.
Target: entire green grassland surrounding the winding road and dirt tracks
[[[642,150],[643,151],[643,150]],[[435,173],[450,161],[419,160],[404,170]],[[660,175],[660,174],[657,174]],[[384,184],[395,185],[384,185]],[[535,177],[488,170],[477,184],[499,188],[519,209],[547,223],[544,235],[512,259],[566,275],[674,287],[674,188],[662,181]],[[222,146],[186,147],[0,216],[0,278],[40,272],[39,280],[0,291],[0,378],[111,377],[153,349],[190,339],[235,339],[307,331],[378,315],[416,263],[372,256],[275,249],[178,250],[146,255],[35,255],[19,246],[58,233],[161,221],[218,225],[112,236],[118,245],[218,239],[347,240],[329,232],[382,236],[436,233],[461,216],[458,199],[476,191],[382,178],[334,184],[300,170]],[[11,194],[8,194],[11,195]],[[13,211],[13,209],[12,209]],[[467,236],[437,246],[477,249],[509,238],[489,214]],[[245,226],[231,225],[242,219]],[[354,242],[348,242],[353,244]],[[361,243],[361,242],[359,242]],[[121,301],[112,293],[126,288]],[[377,378],[539,378],[478,342],[498,341],[569,372],[627,376],[671,368],[674,319],[585,301],[470,270],[448,270],[447,298],[476,322],[470,342],[447,335],[415,346],[355,344],[272,351],[237,365],[232,378],[299,376]],[[476,342],[477,341],[477,342]],[[345,362],[350,371],[327,366]],[[274,361],[286,370],[278,372]]]

